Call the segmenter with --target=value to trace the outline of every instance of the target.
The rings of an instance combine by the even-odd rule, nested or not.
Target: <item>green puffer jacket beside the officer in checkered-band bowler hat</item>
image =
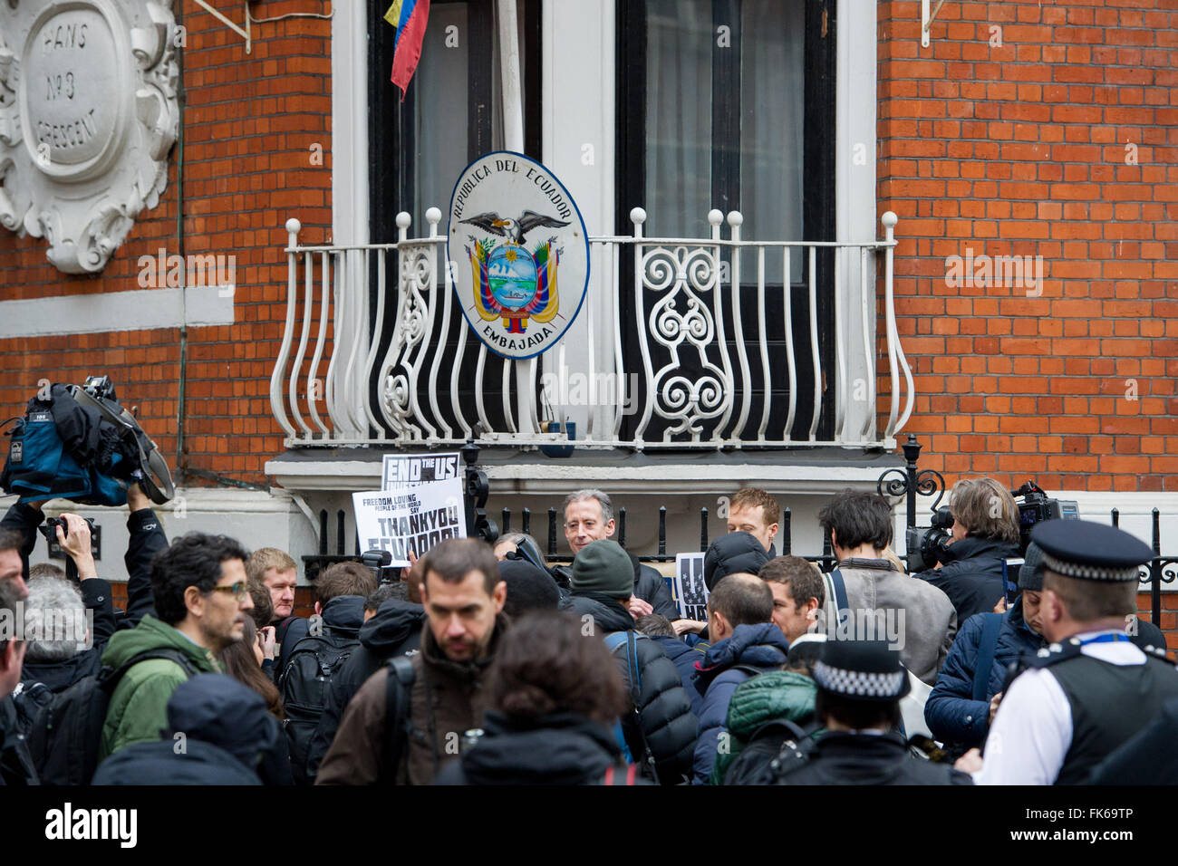
[[[712,784],[726,782],[728,771],[744,755],[743,762],[754,760],[746,749],[761,728],[772,721],[785,719],[796,725],[807,725],[814,719],[814,695],[818,687],[814,680],[793,670],[773,670],[759,676],[750,676],[733,692],[728,701],[729,749],[716,754],[716,763],[712,768]],[[765,762],[777,754],[765,756]]]

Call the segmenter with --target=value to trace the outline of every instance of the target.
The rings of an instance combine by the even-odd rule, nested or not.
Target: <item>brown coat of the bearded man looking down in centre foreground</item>
[[[410,716],[413,735],[396,769],[398,785],[431,785],[442,765],[454,755],[450,734],[462,736],[478,727],[487,712],[483,681],[495,659],[499,639],[509,620],[499,614],[484,659],[477,662],[450,661],[434,641],[434,633],[422,630],[422,648],[410,656],[413,686]],[[373,673],[352,698],[339,722],[336,739],[319,763],[316,785],[372,785],[389,782],[384,775],[389,672]]]

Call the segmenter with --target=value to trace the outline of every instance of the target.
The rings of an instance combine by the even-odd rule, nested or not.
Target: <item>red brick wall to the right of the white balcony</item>
[[[921,48],[920,4],[879,5],[879,212],[900,217],[922,465],[1178,490],[1176,9],[948,0]],[[1043,256],[1041,297],[947,286],[967,247]]]

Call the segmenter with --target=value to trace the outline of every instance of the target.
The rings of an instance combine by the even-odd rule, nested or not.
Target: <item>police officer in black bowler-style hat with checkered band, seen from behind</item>
[[[814,663],[816,739],[787,740],[749,785],[969,785],[966,773],[915,758],[900,725],[908,672],[884,641],[827,641]]]

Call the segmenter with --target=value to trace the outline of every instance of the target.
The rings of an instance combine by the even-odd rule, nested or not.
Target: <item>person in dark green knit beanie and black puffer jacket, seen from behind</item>
[[[690,775],[691,752],[699,722],[691,713],[679,670],[659,646],[634,630],[629,600],[634,593],[630,557],[615,541],[585,544],[573,560],[570,609],[589,624],[593,634],[610,643],[611,634],[622,635],[614,652],[627,695],[636,712],[623,716],[622,729],[635,763],[649,768],[644,758],[649,746],[662,785],[679,785]],[[633,650],[631,650],[633,647]],[[636,656],[637,682],[630,673],[630,654]]]

